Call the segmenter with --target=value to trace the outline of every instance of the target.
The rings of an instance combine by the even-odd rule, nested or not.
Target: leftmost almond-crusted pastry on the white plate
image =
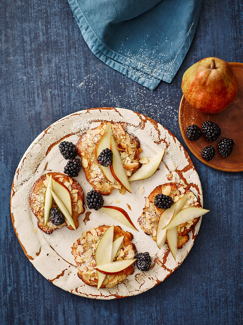
[[[77,220],[78,216],[84,212],[84,193],[81,186],[73,178],[68,177],[67,175],[54,172],[48,173],[48,175],[52,175],[54,180],[61,182],[70,192],[73,208],[72,218],[74,220],[75,227],[77,228],[79,226],[79,221]],[[63,224],[55,226],[50,220],[48,220],[46,225],[44,225],[44,201],[47,184],[47,174],[44,174],[32,186],[29,195],[29,203],[31,211],[38,219],[38,227],[46,234],[51,234],[53,230],[67,226],[67,223],[65,221]],[[57,205],[53,200],[52,208],[54,207],[57,207]],[[74,230],[71,225],[67,227],[68,229]]]

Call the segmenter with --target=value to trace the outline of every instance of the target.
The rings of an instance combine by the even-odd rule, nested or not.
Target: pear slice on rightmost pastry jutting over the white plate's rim
[[[210,210],[196,208],[196,207],[188,207],[176,214],[176,216],[165,226],[163,229],[171,229],[173,227],[177,227],[185,222],[189,222],[195,218],[200,217],[203,214],[208,213]]]

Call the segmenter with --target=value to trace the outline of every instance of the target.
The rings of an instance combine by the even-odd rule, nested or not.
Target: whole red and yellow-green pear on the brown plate
[[[183,75],[181,89],[196,110],[218,113],[236,98],[239,83],[227,62],[211,57],[188,68]]]

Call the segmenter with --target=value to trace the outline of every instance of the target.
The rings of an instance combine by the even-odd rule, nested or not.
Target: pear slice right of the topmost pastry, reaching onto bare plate
[[[129,181],[137,181],[152,176],[158,169],[162,158],[164,157],[164,150],[150,159],[150,161],[142,165],[133,175],[129,177]]]

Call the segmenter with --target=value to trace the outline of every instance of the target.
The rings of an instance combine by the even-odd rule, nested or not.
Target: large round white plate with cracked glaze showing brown
[[[77,268],[71,254],[72,244],[83,231],[99,225],[113,225],[113,219],[102,211],[89,211],[79,216],[77,231],[63,227],[46,235],[37,228],[37,218],[29,207],[29,192],[34,182],[44,173],[57,171],[63,173],[67,161],[61,156],[58,144],[63,139],[76,143],[79,136],[87,129],[94,128],[100,121],[122,122],[129,133],[140,140],[143,152],[141,156],[153,156],[160,149],[166,149],[163,162],[152,177],[131,183],[132,194],[124,195],[114,189],[112,194],[104,196],[104,205],[117,205],[125,209],[135,226],[140,230],[133,231],[118,223],[124,230],[133,233],[132,242],[138,252],[144,250],[152,256],[152,268],[148,272],[140,272],[136,267],[132,275],[111,289],[97,290],[83,283],[77,276]],[[73,113],[55,122],[43,131],[30,145],[21,159],[16,171],[10,201],[13,226],[18,240],[34,267],[56,286],[74,294],[96,298],[113,299],[139,294],[163,281],[182,263],[190,251],[200,227],[200,221],[189,233],[190,239],[178,250],[174,260],[166,244],[159,250],[152,236],[146,235],[137,224],[142,213],[145,198],[157,186],[167,183],[166,175],[172,174],[172,182],[188,183],[202,204],[202,189],[199,176],[182,145],[167,129],[152,119],[131,110],[116,108],[95,108]],[[168,176],[169,177],[169,176]],[[91,190],[84,172],[81,170],[76,180],[84,193]],[[128,210],[130,205],[131,211]]]

